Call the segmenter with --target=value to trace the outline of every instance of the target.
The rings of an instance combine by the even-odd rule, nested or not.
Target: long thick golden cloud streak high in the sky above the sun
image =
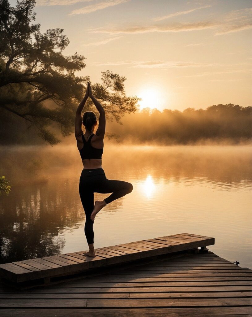
[[[134,34],[149,32],[181,32],[192,30],[203,30],[217,27],[216,22],[195,22],[195,23],[170,23],[167,25],[150,25],[150,26],[132,26],[124,28],[95,28],[89,29],[91,33],[109,33],[109,34]]]

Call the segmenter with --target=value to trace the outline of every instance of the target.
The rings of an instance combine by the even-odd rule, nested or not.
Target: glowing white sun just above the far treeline
[[[139,98],[142,100],[138,101],[140,105],[140,110],[143,108],[149,107],[151,109],[157,108],[161,110],[163,106],[163,97],[161,93],[161,89],[159,87],[144,87],[140,89],[139,93],[137,94]]]

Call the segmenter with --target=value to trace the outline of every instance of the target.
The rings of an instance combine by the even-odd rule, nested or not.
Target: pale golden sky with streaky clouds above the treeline
[[[86,57],[78,75],[125,76],[140,109],[252,106],[250,0],[37,0],[34,11],[41,32],[64,29],[65,55]]]

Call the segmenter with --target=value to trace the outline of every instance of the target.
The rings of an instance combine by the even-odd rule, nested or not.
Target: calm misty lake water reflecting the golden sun
[[[104,147],[107,178],[129,181],[134,189],[96,216],[95,247],[187,232],[215,237],[211,251],[252,268],[251,149]],[[16,173],[11,194],[0,197],[2,263],[87,250],[79,153],[73,146],[40,150],[48,181],[22,182]],[[28,156],[32,151],[38,149],[20,149]],[[107,196],[96,193],[95,200]]]

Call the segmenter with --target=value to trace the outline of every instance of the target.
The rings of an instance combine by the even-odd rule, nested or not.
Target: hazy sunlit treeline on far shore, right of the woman
[[[230,139],[238,143],[252,138],[252,107],[219,104],[183,112],[144,108],[125,115],[122,123],[107,125],[120,142],[190,144],[204,139]]]

